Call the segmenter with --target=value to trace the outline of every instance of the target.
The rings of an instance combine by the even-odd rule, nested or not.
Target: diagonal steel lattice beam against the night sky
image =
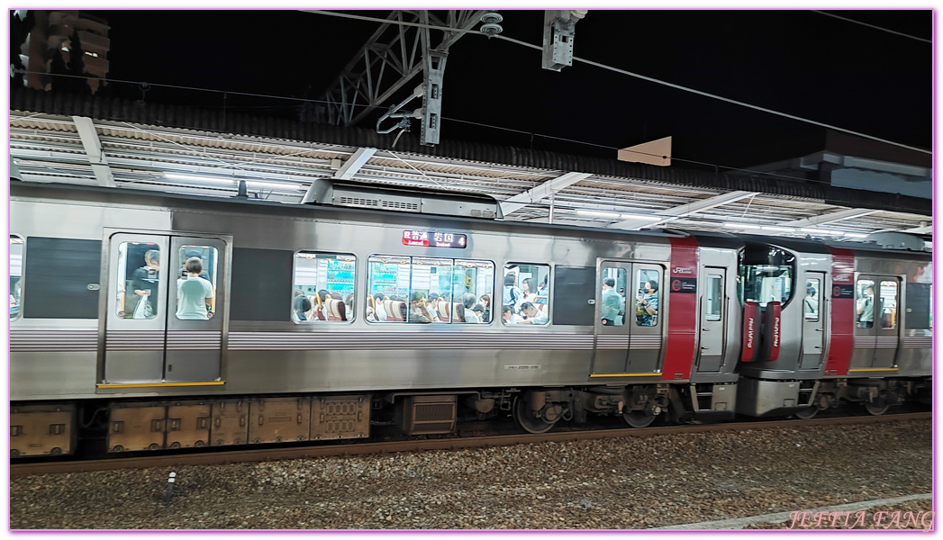
[[[391,12],[389,23],[377,28],[356,57],[340,72],[338,79],[324,92],[322,99],[327,102],[326,121],[335,125],[360,122],[375,107],[383,106],[410,79],[422,73],[429,50],[447,52],[466,30],[480,22],[484,12],[483,9],[451,9],[446,21],[428,11]],[[452,30],[443,30],[442,40],[430,49],[432,42],[422,42],[423,31],[429,31],[429,28],[420,26],[423,24]]]

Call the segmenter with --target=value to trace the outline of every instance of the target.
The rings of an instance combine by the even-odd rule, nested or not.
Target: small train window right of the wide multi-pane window
[[[504,323],[547,324],[550,318],[549,283],[548,265],[505,265],[501,297]]]

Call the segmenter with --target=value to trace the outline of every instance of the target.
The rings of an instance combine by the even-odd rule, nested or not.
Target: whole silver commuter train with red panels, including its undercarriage
[[[317,205],[10,188],[13,457],[94,430],[161,450],[929,399],[924,253],[342,184]]]

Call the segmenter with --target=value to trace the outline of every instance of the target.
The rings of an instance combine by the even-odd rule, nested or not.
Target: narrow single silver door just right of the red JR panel
[[[727,346],[727,270],[704,268],[706,284],[701,299],[701,349],[698,352],[698,372],[717,372],[723,365]]]

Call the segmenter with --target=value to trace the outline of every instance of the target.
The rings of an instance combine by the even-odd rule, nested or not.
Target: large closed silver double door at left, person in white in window
[[[116,233],[109,237],[104,382],[211,382],[220,377],[225,242]],[[189,258],[199,260],[183,279]],[[202,267],[202,268],[201,268]],[[190,279],[192,278],[192,279]],[[208,282],[203,285],[200,280]],[[190,285],[181,284],[190,281]],[[209,294],[197,302],[199,294]],[[178,291],[180,293],[178,293]],[[207,298],[208,308],[207,308]],[[183,303],[183,309],[178,309]]]

